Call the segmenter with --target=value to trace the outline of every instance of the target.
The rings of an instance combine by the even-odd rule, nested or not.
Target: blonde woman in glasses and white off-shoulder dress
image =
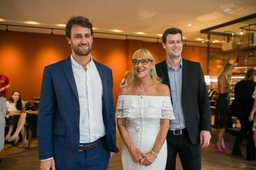
[[[124,141],[124,170],[165,169],[166,134],[174,119],[170,90],[157,76],[153,55],[140,49],[132,55],[133,77],[120,89],[117,125]]]

